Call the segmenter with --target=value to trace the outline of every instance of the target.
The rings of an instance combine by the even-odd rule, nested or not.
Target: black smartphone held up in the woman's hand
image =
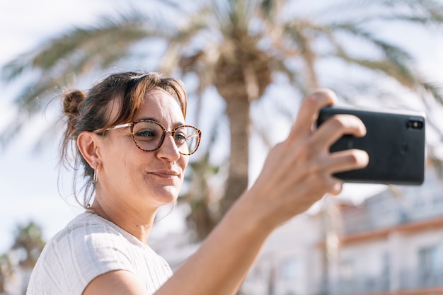
[[[347,183],[421,185],[425,180],[425,114],[398,110],[362,110],[328,106],[318,116],[317,126],[333,115],[351,114],[362,120],[364,137],[345,135],[330,152],[362,149],[369,154],[366,168],[336,173]]]

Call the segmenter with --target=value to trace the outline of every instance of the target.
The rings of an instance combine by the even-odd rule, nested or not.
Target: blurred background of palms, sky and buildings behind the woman
[[[59,166],[59,95],[124,70],[183,79],[203,132],[150,238],[172,267],[253,183],[313,89],[425,112],[424,185],[345,185],[276,231],[242,294],[443,294],[443,1],[16,0],[0,14],[0,294],[23,294],[42,246],[82,212]]]

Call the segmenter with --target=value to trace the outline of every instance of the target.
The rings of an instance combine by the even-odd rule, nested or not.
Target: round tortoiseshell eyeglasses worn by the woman
[[[165,139],[166,133],[171,133],[180,154],[188,156],[197,151],[202,132],[190,125],[180,125],[171,131],[152,120],[138,120],[107,129],[98,129],[94,132],[105,132],[110,129],[130,127],[134,144],[142,151],[155,151],[159,149]]]

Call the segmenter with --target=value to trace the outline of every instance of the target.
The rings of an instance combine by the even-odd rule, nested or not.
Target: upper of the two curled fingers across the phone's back
[[[354,115],[334,115],[317,128],[313,134],[313,140],[316,141],[315,146],[329,149],[345,134],[364,137],[366,127],[362,120]]]

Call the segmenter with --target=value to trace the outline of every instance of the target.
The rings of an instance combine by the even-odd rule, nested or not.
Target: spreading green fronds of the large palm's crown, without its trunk
[[[40,113],[54,93],[74,85],[79,77],[91,71],[109,71],[116,64],[133,58],[134,47],[141,42],[149,44],[159,40],[168,44],[159,70],[195,72],[200,79],[200,93],[214,84],[215,62],[220,54],[238,58],[231,51],[236,45],[246,52],[266,48],[272,71],[287,75],[302,95],[318,86],[316,64],[334,57],[378,71],[405,88],[430,93],[442,102],[439,88],[418,74],[408,52],[367,29],[374,22],[441,25],[443,8],[439,1],[334,1],[324,9],[328,11],[326,18],[322,16],[323,11],[308,16],[294,13],[289,17],[284,12],[290,6],[294,4],[283,0],[207,0],[197,1],[194,9],[187,10],[179,2],[167,1],[163,8],[180,17],[165,19],[146,12],[148,10],[132,8],[117,16],[100,18],[96,25],[72,28],[45,40],[1,69],[4,81],[20,79],[28,73],[32,73],[32,78],[15,98],[18,113],[6,128],[8,131],[1,133],[0,141],[4,144],[11,141],[28,122],[28,117]],[[354,13],[358,19],[352,17]],[[338,38],[342,33],[351,40],[364,40],[379,55],[356,56]],[[327,52],[319,52],[318,40],[326,40]],[[297,60],[304,64],[304,69],[288,66],[299,63]]]

